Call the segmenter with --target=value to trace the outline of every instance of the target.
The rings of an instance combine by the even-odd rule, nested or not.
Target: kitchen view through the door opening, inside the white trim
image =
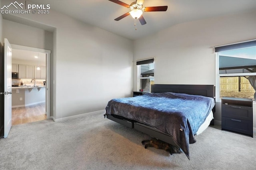
[[[47,119],[46,54],[12,49],[12,73],[12,125]]]

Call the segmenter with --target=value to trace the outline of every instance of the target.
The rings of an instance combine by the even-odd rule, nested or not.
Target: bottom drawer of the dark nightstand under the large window
[[[253,137],[252,121],[245,121],[229,117],[221,117],[221,119],[222,129],[248,134]]]

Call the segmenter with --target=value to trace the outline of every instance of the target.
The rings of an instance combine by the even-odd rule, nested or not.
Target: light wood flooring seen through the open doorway
[[[42,121],[45,119],[47,119],[45,114],[45,103],[12,108],[12,125]]]

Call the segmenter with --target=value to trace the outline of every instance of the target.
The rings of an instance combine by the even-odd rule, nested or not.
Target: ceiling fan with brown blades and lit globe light
[[[143,7],[143,2],[144,0],[136,0],[135,2],[132,2],[130,5],[121,2],[119,0],[109,0],[111,2],[114,2],[116,4],[122,5],[126,8],[130,8],[130,12],[127,12],[123,15],[121,15],[120,17],[116,18],[116,21],[119,21],[121,19],[123,19],[124,17],[131,15],[132,18],[138,19],[140,21],[141,25],[147,24],[144,17],[142,16],[143,12],[155,12],[155,11],[166,11],[168,6],[151,6],[151,7]]]

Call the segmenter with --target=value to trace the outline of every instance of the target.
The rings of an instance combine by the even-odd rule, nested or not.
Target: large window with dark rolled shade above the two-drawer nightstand
[[[239,46],[243,44],[244,46]],[[247,45],[245,45],[247,44]],[[249,44],[249,45],[248,45]],[[216,97],[249,98],[256,95],[256,41],[222,46],[216,50]]]

